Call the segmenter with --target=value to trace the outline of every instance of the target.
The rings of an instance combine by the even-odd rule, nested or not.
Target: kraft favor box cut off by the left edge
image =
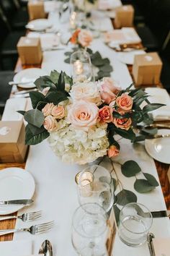
[[[23,163],[27,153],[23,121],[0,121],[0,162]]]

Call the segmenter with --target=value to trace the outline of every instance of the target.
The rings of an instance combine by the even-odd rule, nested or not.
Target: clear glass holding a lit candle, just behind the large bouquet
[[[71,54],[71,74],[74,82],[94,81],[91,59],[88,52],[75,51]]]

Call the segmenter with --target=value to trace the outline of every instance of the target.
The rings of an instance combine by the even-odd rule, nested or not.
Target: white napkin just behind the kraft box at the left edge
[[[18,110],[25,110],[27,106],[27,98],[9,98],[6,101],[4,113],[1,121],[20,121],[23,116],[19,114]]]

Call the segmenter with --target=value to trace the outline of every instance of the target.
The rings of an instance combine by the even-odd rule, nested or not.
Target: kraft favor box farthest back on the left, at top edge
[[[27,9],[30,20],[43,19],[46,17],[43,1],[29,1]]]

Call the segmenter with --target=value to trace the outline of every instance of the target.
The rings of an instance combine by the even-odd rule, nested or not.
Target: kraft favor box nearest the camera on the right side
[[[162,61],[157,53],[135,55],[133,78],[135,85],[156,85],[160,81]]]

